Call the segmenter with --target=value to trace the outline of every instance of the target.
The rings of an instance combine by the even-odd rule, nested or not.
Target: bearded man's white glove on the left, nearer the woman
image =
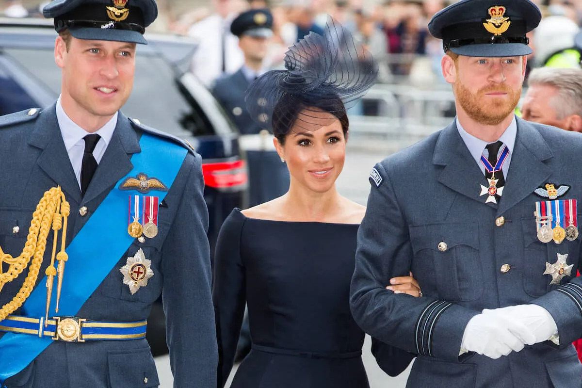
[[[525,334],[522,336],[522,333]],[[533,338],[533,334],[519,321],[512,321],[503,315],[478,314],[467,323],[461,353],[474,351],[489,358],[499,358],[512,350],[520,351],[526,341]]]

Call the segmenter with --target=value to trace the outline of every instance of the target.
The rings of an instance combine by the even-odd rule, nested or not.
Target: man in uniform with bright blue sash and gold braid
[[[161,295],[174,386],[214,387],[200,155],[119,111],[157,5],[43,12],[61,96],[0,118],[0,386],[157,387],[145,319]]]

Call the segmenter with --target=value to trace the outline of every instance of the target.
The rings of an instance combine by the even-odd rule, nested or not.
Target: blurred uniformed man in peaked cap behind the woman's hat
[[[247,151],[250,207],[280,197],[289,188],[289,171],[279,160],[272,135],[253,122],[244,102],[244,92],[251,82],[268,70],[264,59],[272,28],[273,16],[268,9],[251,9],[237,16],[230,31],[239,37],[244,65],[212,87],[212,94],[239,129],[241,147]]]

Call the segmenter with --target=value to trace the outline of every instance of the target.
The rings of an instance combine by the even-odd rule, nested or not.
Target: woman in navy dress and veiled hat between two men
[[[253,345],[232,388],[369,387],[364,332],[349,308],[365,208],[339,195],[335,180],[345,161],[345,104],[371,86],[375,67],[354,51],[346,30],[332,22],[326,30],[325,37],[311,34],[295,44],[287,70],[264,74],[247,91],[247,108],[273,130],[291,180],[282,197],[233,210],[219,233],[213,287],[219,387],[232,369],[245,302]],[[349,84],[350,77],[357,81]],[[398,292],[420,293],[412,277],[392,283]],[[414,357],[375,339],[372,353],[392,376]]]

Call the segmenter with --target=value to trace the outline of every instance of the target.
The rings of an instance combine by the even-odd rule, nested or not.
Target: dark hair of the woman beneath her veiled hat
[[[302,113],[310,116],[310,114],[314,115],[315,112],[320,111],[331,113],[339,120],[340,124],[342,124],[343,136],[347,139],[347,130],[350,127],[350,122],[347,118],[346,107],[339,95],[328,93],[327,95],[317,95],[317,98],[310,97],[311,94],[297,95],[287,93],[275,105],[271,125],[273,134],[281,145],[285,144],[285,138],[293,131],[293,126],[297,123],[297,120],[301,120],[300,115]],[[303,126],[300,125],[300,127]]]

